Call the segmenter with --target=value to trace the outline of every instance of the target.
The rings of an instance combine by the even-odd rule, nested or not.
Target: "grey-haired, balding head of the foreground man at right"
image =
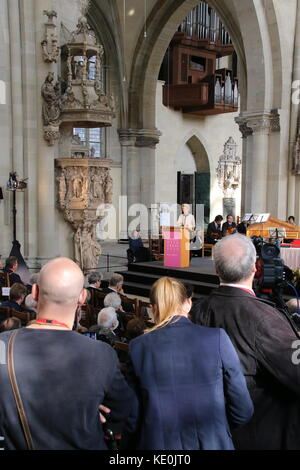
[[[251,239],[245,235],[230,235],[215,245],[214,259],[222,281],[240,282],[253,273],[256,250]]]

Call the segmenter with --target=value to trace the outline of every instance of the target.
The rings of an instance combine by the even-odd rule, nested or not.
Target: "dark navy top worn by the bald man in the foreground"
[[[6,344],[11,332],[0,334]],[[61,360],[63,356],[63,360]],[[15,369],[36,450],[105,450],[99,405],[109,427],[134,427],[137,400],[115,351],[73,331],[19,330]],[[0,364],[0,435],[7,450],[26,450],[7,365]],[[129,421],[129,416],[131,419]]]

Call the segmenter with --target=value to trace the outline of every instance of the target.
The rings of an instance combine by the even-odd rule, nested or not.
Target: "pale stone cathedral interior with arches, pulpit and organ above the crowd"
[[[203,207],[204,230],[228,213],[298,223],[299,15],[296,0],[1,0],[2,256],[12,172],[32,269],[93,268],[103,239],[147,238],[165,203]]]

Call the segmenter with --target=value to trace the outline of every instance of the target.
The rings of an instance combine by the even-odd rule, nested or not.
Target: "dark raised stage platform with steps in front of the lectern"
[[[124,276],[125,292],[143,297],[149,297],[152,284],[163,276],[189,282],[194,286],[195,297],[209,295],[219,285],[214,262],[207,258],[192,258],[189,268],[165,267],[163,261],[133,263],[128,266],[128,271],[120,274]]]

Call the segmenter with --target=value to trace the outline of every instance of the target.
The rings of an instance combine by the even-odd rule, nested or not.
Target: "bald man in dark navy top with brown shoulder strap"
[[[48,262],[32,291],[38,318],[15,330],[17,336],[1,334],[6,347],[14,341],[16,379],[32,440],[25,440],[7,366],[0,364],[1,431],[7,450],[105,450],[103,417],[100,422],[98,414],[102,406],[111,410],[114,432],[135,425],[137,402],[115,352],[72,331],[77,306],[84,302],[83,285],[82,271],[73,261]]]

